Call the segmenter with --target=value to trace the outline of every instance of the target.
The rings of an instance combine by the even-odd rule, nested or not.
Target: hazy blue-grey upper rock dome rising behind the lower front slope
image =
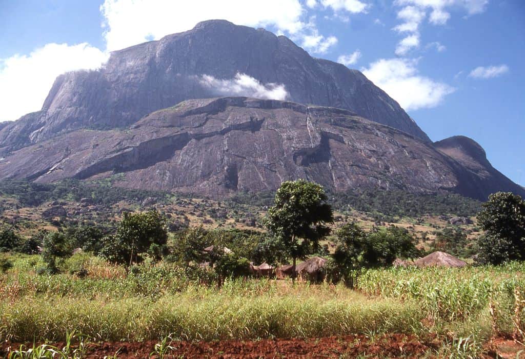
[[[206,80],[228,81],[237,73],[262,85],[283,85],[287,100],[347,109],[430,141],[361,72],[312,58],[285,36],[209,20],[184,33],[114,51],[99,70],[60,75],[41,111],[0,129],[0,154],[78,129],[122,128],[183,100],[224,96],[229,94],[224,86]]]

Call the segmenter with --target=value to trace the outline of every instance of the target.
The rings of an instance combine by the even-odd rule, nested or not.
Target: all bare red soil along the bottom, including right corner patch
[[[155,353],[158,341],[90,343],[83,358],[95,359],[105,356],[119,359],[159,358]],[[374,337],[366,335],[330,336],[309,339],[263,339],[256,341],[215,341],[167,343],[172,349],[165,358],[437,358],[436,340],[423,343],[413,335],[386,334]],[[51,344],[58,349],[64,343]],[[26,344],[32,347],[32,343]],[[19,343],[2,343],[0,357],[7,357],[9,348],[18,349]],[[73,346],[76,348],[76,346]],[[483,359],[525,358],[525,346],[521,343],[496,338],[485,347]]]

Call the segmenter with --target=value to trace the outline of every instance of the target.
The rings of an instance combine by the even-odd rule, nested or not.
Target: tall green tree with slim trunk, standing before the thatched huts
[[[330,234],[332,207],[322,186],[299,179],[281,184],[274,206],[268,210],[266,227],[282,241],[293,260],[292,279],[296,277],[297,258],[319,250],[319,240]]]

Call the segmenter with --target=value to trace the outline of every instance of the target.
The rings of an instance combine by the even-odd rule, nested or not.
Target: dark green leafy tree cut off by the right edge
[[[478,214],[478,224],[485,230],[478,241],[479,262],[525,260],[525,200],[520,196],[491,194]]]

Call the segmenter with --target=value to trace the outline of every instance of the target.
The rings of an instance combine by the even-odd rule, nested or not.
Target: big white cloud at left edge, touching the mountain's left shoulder
[[[0,120],[16,120],[40,110],[58,75],[96,69],[106,60],[104,52],[86,43],[47,44],[27,56],[0,59]]]

